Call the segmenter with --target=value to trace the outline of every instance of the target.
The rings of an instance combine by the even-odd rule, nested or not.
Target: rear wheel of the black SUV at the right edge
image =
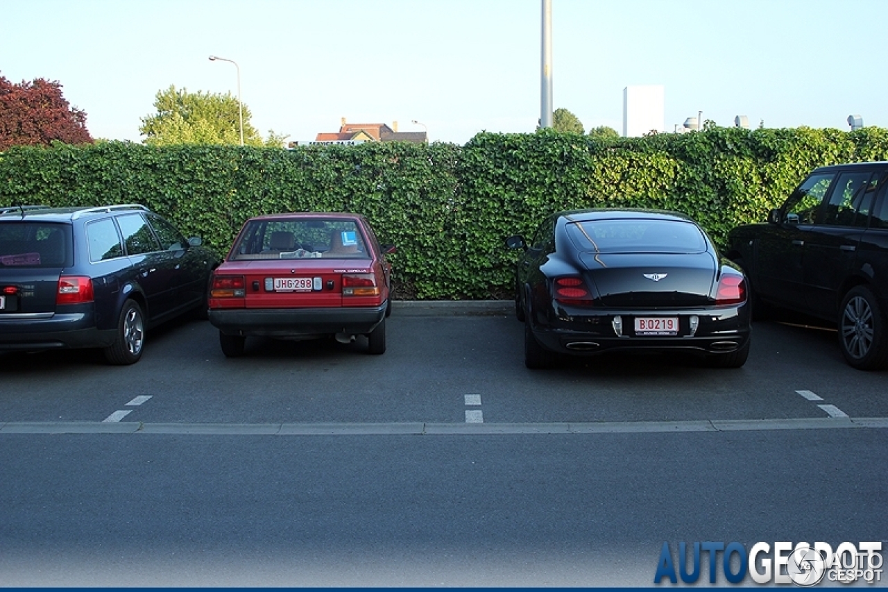
[[[838,343],[845,361],[854,368],[888,366],[884,310],[867,286],[855,286],[845,294],[839,311]]]

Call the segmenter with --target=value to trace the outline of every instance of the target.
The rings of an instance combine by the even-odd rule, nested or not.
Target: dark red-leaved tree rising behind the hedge
[[[58,80],[36,78],[32,83],[12,84],[0,76],[0,150],[49,146],[53,140],[90,143],[86,113],[68,104]]]

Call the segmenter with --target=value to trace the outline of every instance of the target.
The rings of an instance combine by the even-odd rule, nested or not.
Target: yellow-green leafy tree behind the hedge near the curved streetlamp
[[[170,85],[155,96],[157,113],[141,118],[139,133],[146,144],[240,144],[238,101],[231,94],[188,92]],[[281,146],[286,136],[268,131],[263,140],[250,125],[250,109],[243,105],[243,143],[248,146]]]

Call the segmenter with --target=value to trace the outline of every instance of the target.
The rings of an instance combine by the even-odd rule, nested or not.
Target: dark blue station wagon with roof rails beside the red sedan
[[[133,364],[145,330],[205,315],[218,257],[142,205],[0,209],[0,351],[103,348]]]

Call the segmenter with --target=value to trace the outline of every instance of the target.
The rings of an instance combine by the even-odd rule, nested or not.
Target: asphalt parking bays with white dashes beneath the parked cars
[[[507,303],[400,303],[388,334],[384,356],[364,354],[362,338],[257,338],[246,356],[229,359],[210,324],[183,321],[151,332],[145,358],[129,367],[88,351],[7,355],[0,431],[40,423],[62,431],[67,423],[669,431],[875,426],[888,418],[886,373],[848,367],[835,332],[824,328],[754,324],[749,362],[735,370],[681,356],[611,355],[530,371],[522,325]]]

